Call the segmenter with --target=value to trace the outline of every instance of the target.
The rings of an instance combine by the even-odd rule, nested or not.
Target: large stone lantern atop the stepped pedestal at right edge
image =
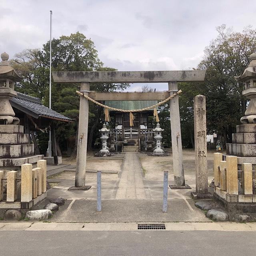
[[[242,124],[256,124],[256,53],[250,55],[250,64],[241,76],[235,77],[239,82],[245,82],[242,94],[250,99],[248,108],[240,121]]]

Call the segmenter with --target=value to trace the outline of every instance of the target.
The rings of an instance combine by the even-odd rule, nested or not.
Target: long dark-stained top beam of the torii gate
[[[58,83],[164,83],[204,81],[205,70],[52,72]]]

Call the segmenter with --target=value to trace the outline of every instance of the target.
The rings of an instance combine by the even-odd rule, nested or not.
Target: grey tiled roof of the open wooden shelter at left
[[[10,100],[12,107],[19,109],[34,118],[44,117],[49,119],[63,120],[65,122],[72,121],[72,119],[63,116],[62,114],[44,106],[39,98],[32,97],[18,92],[16,97]]]

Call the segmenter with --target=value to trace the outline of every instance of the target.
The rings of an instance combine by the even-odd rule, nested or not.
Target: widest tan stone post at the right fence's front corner
[[[237,156],[226,156],[226,177],[228,194],[238,195]]]

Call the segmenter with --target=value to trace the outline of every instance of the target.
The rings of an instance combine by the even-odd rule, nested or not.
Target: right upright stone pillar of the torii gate
[[[168,82],[170,95],[178,92],[177,82]],[[174,185],[177,187],[185,186],[183,157],[182,157],[182,142],[180,132],[180,110],[179,97],[176,96],[170,99],[170,119],[172,132],[172,161]]]

